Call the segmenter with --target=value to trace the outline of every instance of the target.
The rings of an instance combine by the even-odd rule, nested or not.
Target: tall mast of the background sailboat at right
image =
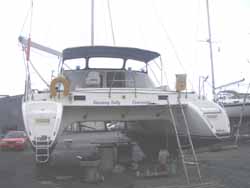
[[[212,46],[212,34],[211,34],[211,25],[210,25],[210,14],[209,14],[209,0],[206,0],[207,4],[207,24],[208,24],[208,40],[209,51],[210,51],[210,62],[211,62],[211,77],[212,77],[212,94],[213,99],[215,99],[215,83],[214,83],[214,61],[213,61],[213,46]]]

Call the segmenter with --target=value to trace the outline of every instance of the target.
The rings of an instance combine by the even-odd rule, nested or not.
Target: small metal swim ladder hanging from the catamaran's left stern
[[[47,136],[36,137],[35,139],[36,162],[47,163],[50,157],[50,139]]]

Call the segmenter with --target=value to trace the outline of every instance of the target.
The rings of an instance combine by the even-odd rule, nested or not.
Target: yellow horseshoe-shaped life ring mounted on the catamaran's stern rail
[[[50,83],[50,95],[52,97],[55,97],[57,95],[57,88],[56,88],[56,85],[58,83],[62,83],[63,84],[63,96],[68,96],[69,95],[69,81],[62,77],[62,76],[59,76],[57,78],[54,78],[51,83]]]

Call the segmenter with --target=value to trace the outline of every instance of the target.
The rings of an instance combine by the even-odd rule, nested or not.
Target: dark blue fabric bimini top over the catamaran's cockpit
[[[107,57],[124,60],[133,59],[147,63],[159,56],[160,54],[157,52],[127,47],[84,46],[63,50],[63,61],[77,58]]]

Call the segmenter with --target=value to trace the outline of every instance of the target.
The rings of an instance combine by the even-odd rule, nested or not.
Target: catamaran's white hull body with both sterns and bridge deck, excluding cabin
[[[159,96],[167,97],[170,105]],[[120,121],[128,122],[128,125],[136,122],[135,126],[129,126],[130,133],[164,139],[167,135],[175,135],[170,115],[172,109],[178,134],[185,137],[184,117],[177,97],[174,92],[152,89],[137,90],[136,95],[134,89],[117,89],[111,97],[107,89],[86,89],[70,97],[52,99],[46,93],[38,94],[33,102],[23,104],[24,123],[31,141],[46,135],[51,140],[50,147],[57,136],[75,122]],[[193,138],[218,141],[230,135],[228,116],[219,105],[199,100],[193,93],[181,97],[181,103]],[[37,119],[47,119],[47,124]],[[160,146],[157,139],[152,143],[154,141],[155,148]]]

